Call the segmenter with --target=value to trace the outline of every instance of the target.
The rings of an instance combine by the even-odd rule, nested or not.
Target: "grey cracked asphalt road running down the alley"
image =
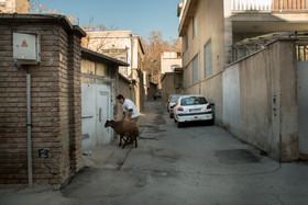
[[[64,189],[7,186],[0,204],[308,204],[307,162],[280,164],[218,126],[177,128],[160,101],[139,125],[138,148],[97,147]]]

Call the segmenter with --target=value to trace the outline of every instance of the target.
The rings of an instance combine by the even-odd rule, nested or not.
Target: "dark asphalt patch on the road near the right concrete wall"
[[[248,149],[217,150],[215,155],[221,163],[257,163],[261,160]]]

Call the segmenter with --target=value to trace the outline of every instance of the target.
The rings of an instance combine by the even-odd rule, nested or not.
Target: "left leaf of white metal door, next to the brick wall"
[[[81,84],[82,150],[96,146],[96,84]]]

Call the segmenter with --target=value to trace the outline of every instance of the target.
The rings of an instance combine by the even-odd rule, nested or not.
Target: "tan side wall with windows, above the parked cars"
[[[193,1],[191,1],[193,2]],[[179,35],[184,37],[183,43],[183,68],[185,94],[202,94],[206,99],[216,104],[216,124],[222,125],[222,81],[221,73],[224,69],[224,55],[230,55],[230,50],[224,50],[222,35],[229,33],[230,27],[224,26],[223,1],[194,1],[190,10],[187,11],[186,23],[179,30]],[[193,36],[193,18],[196,20],[197,33]],[[183,22],[182,22],[183,23]],[[229,37],[229,36],[227,36]],[[205,75],[205,46],[211,42],[211,65],[212,75]],[[189,45],[186,46],[185,45]],[[228,43],[229,44],[229,43]],[[228,46],[228,45],[227,45]],[[198,81],[193,82],[193,60],[198,56]],[[187,79],[187,73],[188,78]]]

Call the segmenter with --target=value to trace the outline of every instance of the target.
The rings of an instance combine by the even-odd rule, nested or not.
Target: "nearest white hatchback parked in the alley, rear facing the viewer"
[[[182,127],[184,123],[195,121],[213,123],[210,103],[199,94],[180,95],[174,107],[174,122]]]

